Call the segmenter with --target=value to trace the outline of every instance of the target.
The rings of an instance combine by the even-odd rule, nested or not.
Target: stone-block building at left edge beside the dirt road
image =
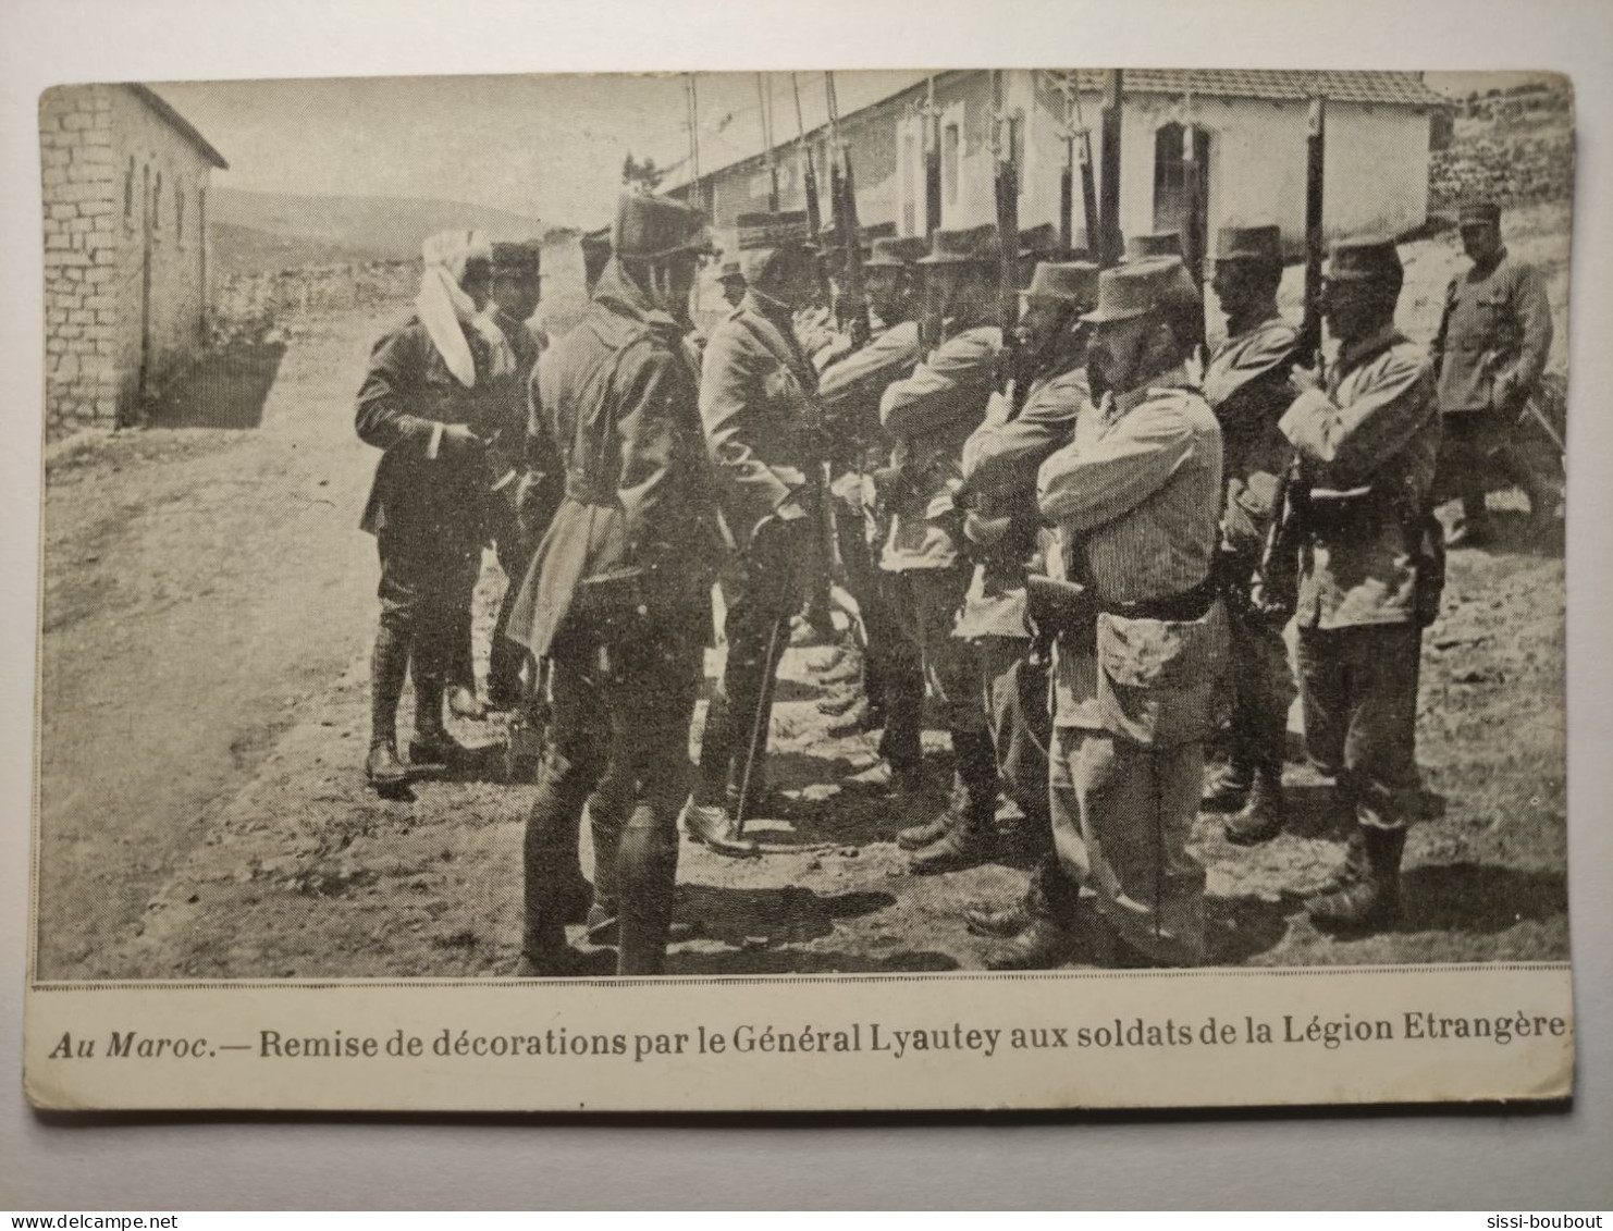
[[[206,189],[227,163],[145,86],[58,86],[39,105],[45,436],[124,426],[203,340]]]

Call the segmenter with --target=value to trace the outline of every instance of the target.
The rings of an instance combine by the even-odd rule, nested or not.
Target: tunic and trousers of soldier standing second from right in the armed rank
[[[1223,592],[1232,634],[1232,721],[1248,768],[1282,773],[1294,673],[1282,629],[1250,605],[1248,582],[1276,516],[1279,476],[1292,449],[1277,419],[1294,400],[1289,371],[1298,334],[1277,316],[1227,337],[1205,365],[1202,392],[1221,424]]]

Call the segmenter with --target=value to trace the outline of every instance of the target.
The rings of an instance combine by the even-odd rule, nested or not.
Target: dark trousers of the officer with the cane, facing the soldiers
[[[744,555],[727,561],[721,578],[727,661],[700,736],[700,803],[723,803],[729,789],[739,789],[752,732],[760,734],[752,770],[753,781],[760,781],[755,774],[773,721],[771,689],[765,695],[765,687],[789,647],[787,621],[800,603],[811,560],[811,526],[802,520],[765,529]]]

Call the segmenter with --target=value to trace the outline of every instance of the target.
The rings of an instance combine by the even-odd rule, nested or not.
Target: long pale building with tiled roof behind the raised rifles
[[[1100,111],[1105,74],[1094,69],[1010,69],[1003,74],[1003,113],[1019,168],[1019,224],[1060,221],[1061,177],[1074,127],[1092,132],[1095,168],[1102,166]],[[1428,218],[1429,136],[1448,106],[1418,73],[1289,69],[1129,69],[1123,86],[1119,221],[1127,236],[1182,229],[1202,237],[1221,226],[1277,223],[1290,250],[1305,232],[1305,132],[1310,97],[1326,100],[1326,211],[1329,236],[1355,231],[1403,234]],[[842,140],[857,169],[863,224],[894,223],[903,236],[923,234],[931,211],[944,227],[995,218],[992,189],[992,74],[984,69],[939,73],[869,106],[845,115]],[[1194,156],[1184,158],[1184,131]],[[924,150],[940,147],[940,200],[929,200]],[[827,192],[824,127],[806,134]],[[776,150],[779,198],[786,208],[805,202],[797,142]],[[1198,176],[1197,194],[1184,190]],[[766,208],[769,176],[761,150],[715,168],[698,182],[702,203],[723,236],[734,218]],[[663,187],[689,197],[694,186]],[[1189,200],[1198,216],[1186,218]],[[827,200],[823,216],[829,216]],[[1077,247],[1084,236],[1079,187],[1074,194]]]

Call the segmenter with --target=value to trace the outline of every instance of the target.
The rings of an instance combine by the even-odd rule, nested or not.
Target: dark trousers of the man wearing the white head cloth
[[[442,724],[442,687],[455,665],[468,610],[465,578],[481,547],[469,536],[382,528],[381,626],[371,655],[371,741],[390,741],[405,673],[415,678],[415,728]]]

